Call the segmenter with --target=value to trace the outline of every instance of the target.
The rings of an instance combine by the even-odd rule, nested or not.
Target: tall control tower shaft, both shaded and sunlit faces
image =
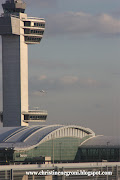
[[[18,35],[2,36],[3,125],[24,125],[28,112],[28,45]]]

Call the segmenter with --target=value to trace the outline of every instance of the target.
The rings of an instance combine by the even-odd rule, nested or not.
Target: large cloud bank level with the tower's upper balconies
[[[47,17],[47,34],[120,34],[120,20],[108,14],[65,12]]]

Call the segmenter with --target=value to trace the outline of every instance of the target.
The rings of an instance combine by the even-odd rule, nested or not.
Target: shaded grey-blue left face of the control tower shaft
[[[2,36],[2,71],[3,126],[20,126],[20,36]]]

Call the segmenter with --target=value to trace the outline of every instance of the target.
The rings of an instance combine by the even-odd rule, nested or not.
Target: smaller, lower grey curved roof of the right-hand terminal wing
[[[120,148],[120,137],[96,136],[83,142],[79,148]]]

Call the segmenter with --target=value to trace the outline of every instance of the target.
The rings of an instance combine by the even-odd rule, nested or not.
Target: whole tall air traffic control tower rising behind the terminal
[[[27,126],[29,122],[45,121],[47,111],[28,110],[28,45],[40,43],[45,21],[27,17],[22,0],[6,0],[2,7],[3,126]]]

